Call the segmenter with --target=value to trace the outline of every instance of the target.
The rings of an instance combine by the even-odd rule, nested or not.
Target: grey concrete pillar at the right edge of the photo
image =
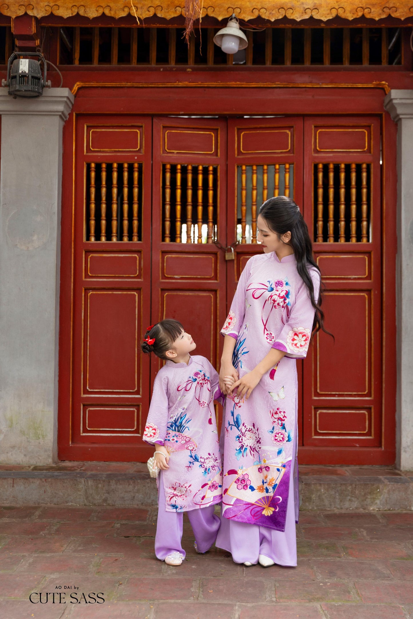
[[[413,470],[413,90],[391,90],[385,108],[398,123],[396,464]]]

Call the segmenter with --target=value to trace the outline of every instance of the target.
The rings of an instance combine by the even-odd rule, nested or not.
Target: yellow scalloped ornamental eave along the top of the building
[[[34,17],[46,17],[47,15],[57,15],[59,17],[125,17],[134,12],[131,7],[132,0],[84,0],[81,4],[76,4],[72,0],[60,0],[54,3],[46,0],[32,0],[22,2],[21,0],[8,0],[1,4],[0,11],[3,15],[17,17],[25,12]],[[134,8],[139,19],[147,17],[163,17],[171,19],[185,15],[185,2],[183,0],[160,0],[160,2],[137,2],[133,0]],[[155,6],[154,6],[155,5]],[[413,17],[413,0],[370,0],[368,4],[363,4],[360,0],[318,0],[316,2],[300,2],[284,0],[240,0],[237,6],[228,6],[228,2],[220,0],[205,0],[202,8],[202,17],[209,15],[216,19],[227,19],[233,12],[241,19],[249,20],[255,17],[263,17],[271,21],[288,17],[297,21],[315,17],[323,22],[342,17],[343,19],[356,19],[357,17],[368,17],[369,19],[384,19],[385,17],[396,17],[406,19]]]

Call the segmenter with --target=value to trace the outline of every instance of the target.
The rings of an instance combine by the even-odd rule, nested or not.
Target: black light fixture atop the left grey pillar
[[[40,63],[43,63],[43,75]],[[14,99],[39,97],[43,88],[51,87],[51,82],[46,82],[46,60],[43,54],[37,51],[12,53],[7,63],[7,79],[2,80],[1,85],[9,87],[9,95]]]

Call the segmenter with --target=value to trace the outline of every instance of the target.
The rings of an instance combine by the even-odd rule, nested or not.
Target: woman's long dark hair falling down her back
[[[294,250],[295,261],[297,263],[297,272],[308,288],[311,305],[315,308],[313,332],[316,333],[322,329],[325,333],[331,335],[331,333],[324,329],[324,312],[321,309],[321,302],[323,300],[321,281],[318,299],[314,298],[314,286],[309,267],[317,269],[319,273],[320,269],[318,268],[313,257],[313,244],[311,243],[308,228],[302,214],[300,213],[300,209],[289,197],[271,197],[261,206],[259,209],[259,215],[266,220],[268,227],[279,237],[287,232],[291,232],[291,240],[289,245]]]

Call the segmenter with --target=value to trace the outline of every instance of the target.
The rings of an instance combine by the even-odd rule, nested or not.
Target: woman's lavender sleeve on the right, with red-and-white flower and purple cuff
[[[320,273],[311,269],[311,279],[314,286],[314,298],[318,299],[320,292]],[[272,348],[285,352],[285,357],[304,359],[310,345],[313,329],[315,308],[311,305],[310,293],[302,282],[290,310],[288,322],[284,324]]]

